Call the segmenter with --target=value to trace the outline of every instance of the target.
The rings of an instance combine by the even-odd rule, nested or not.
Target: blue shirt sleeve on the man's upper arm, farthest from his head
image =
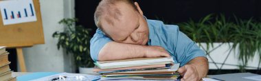
[[[206,57],[205,51],[200,49],[194,41],[192,41],[183,32],[177,30],[177,61],[181,63],[181,67],[187,64],[193,58],[203,56]]]

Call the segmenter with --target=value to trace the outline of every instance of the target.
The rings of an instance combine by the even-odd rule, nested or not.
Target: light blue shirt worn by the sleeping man
[[[147,23],[149,28],[148,45],[165,48],[175,63],[181,63],[181,67],[193,58],[206,57],[205,51],[200,49],[183,32],[180,32],[177,25],[165,25],[162,21],[149,19],[147,19]],[[110,41],[112,41],[111,38],[105,36],[100,29],[96,30],[93,38],[91,38],[91,58],[94,61],[98,60],[100,49]]]

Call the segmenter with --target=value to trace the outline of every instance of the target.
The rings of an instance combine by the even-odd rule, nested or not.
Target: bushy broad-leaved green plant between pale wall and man
[[[65,30],[54,32],[52,36],[58,38],[58,49],[63,47],[67,54],[73,54],[76,67],[79,67],[81,72],[83,68],[94,65],[90,56],[90,30],[82,25],[76,25],[76,22],[77,19],[62,19],[59,24],[64,25]]]

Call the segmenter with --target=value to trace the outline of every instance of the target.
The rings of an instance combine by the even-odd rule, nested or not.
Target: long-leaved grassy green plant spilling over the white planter
[[[242,72],[247,67],[247,62],[252,60],[255,54],[258,54],[261,59],[261,23],[254,21],[253,19],[242,20],[234,16],[234,20],[225,19],[223,14],[216,15],[209,14],[200,21],[188,21],[180,23],[180,29],[182,32],[187,34],[192,40],[196,41],[203,48],[207,56],[213,51],[209,47],[214,47],[214,43],[219,43],[214,49],[218,49],[221,45],[229,45],[229,53],[232,50],[238,51],[238,60],[241,63],[238,67]],[[201,43],[205,43],[204,48]],[[210,56],[209,56],[210,57]],[[228,57],[228,56],[227,56]],[[221,69],[224,65],[225,60],[221,63]],[[211,57],[210,57],[211,58]],[[212,60],[209,59],[209,60]],[[216,62],[212,60],[216,65]],[[260,60],[258,60],[258,67],[260,69]],[[216,65],[216,67],[218,67]]]

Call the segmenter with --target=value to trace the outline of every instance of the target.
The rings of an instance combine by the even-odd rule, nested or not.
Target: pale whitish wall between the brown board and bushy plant
[[[58,50],[57,39],[52,38],[56,31],[63,30],[58,21],[74,16],[73,0],[40,0],[45,44],[23,48],[27,71],[73,72],[70,56],[63,49]]]

